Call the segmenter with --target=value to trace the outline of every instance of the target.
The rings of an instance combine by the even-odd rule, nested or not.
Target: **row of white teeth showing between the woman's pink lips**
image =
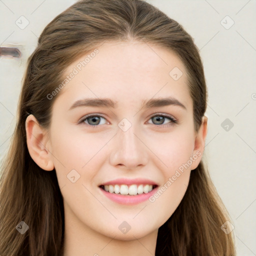
[[[157,185],[153,185],[153,184],[110,185],[109,184],[109,185],[100,185],[99,187],[109,193],[122,194],[122,195],[137,195],[142,193],[146,194],[152,191],[152,189],[154,189],[155,187],[157,187]]]

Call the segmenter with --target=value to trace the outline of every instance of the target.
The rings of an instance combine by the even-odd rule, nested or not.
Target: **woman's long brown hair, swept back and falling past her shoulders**
[[[61,255],[63,198],[55,169],[44,171],[30,157],[25,120],[32,113],[49,127],[68,64],[107,40],[144,41],[175,52],[188,74],[197,131],[206,110],[207,89],[198,48],[175,20],[142,0],[80,0],[42,31],[28,59],[18,103],[17,123],[0,177],[0,255]],[[221,230],[230,217],[202,160],[191,171],[187,190],[170,218],[158,229],[155,255],[235,255],[232,232]],[[24,221],[28,230],[15,226]]]

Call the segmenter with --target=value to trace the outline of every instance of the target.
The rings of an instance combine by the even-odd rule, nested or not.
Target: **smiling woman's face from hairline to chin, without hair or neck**
[[[94,53],[68,66],[52,108],[65,218],[116,239],[143,237],[177,208],[202,154],[185,67],[141,42],[107,42]]]

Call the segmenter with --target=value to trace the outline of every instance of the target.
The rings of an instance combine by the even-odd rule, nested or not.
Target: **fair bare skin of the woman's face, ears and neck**
[[[64,199],[64,256],[151,256],[158,228],[177,208],[190,171],[201,159],[207,118],[195,132],[185,67],[171,51],[137,41],[107,42],[97,49],[98,54],[56,96],[49,129],[41,128],[33,115],[27,117],[28,150],[41,168],[56,170]],[[86,55],[71,63],[66,75]],[[169,75],[173,67],[183,73],[176,81]],[[166,96],[179,100],[186,109],[178,105],[140,108],[142,100]],[[79,106],[68,110],[85,97],[110,98],[118,107]],[[104,117],[94,127],[88,119],[77,123],[89,113]],[[151,118],[162,113],[178,123],[165,118],[160,125]],[[118,126],[123,118],[131,124],[126,131]],[[123,177],[149,178],[159,188],[166,186],[196,152],[197,158],[153,202],[119,204],[98,187]],[[74,183],[67,178],[72,169],[80,175]],[[131,227],[126,233],[118,228],[123,221]]]

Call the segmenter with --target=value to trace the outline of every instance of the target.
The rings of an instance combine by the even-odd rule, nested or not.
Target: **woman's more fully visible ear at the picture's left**
[[[44,170],[53,170],[51,153],[46,148],[49,144],[46,130],[43,129],[36,118],[30,114],[26,118],[26,144],[31,158]]]

